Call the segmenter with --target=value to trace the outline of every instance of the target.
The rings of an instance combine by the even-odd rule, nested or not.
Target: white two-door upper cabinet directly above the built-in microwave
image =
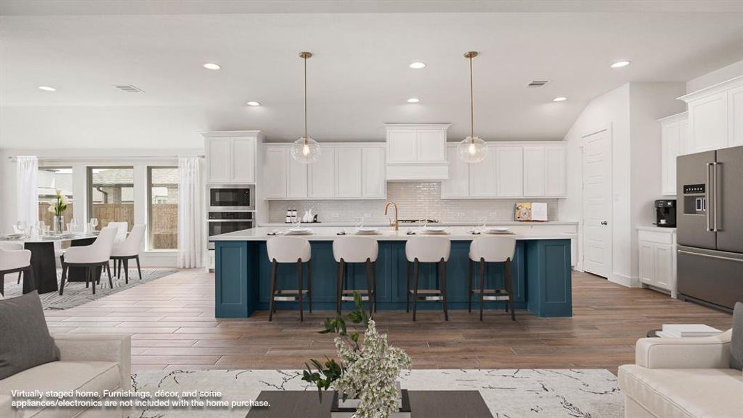
[[[259,131],[204,132],[207,182],[246,184],[256,182],[256,155],[263,135]]]

